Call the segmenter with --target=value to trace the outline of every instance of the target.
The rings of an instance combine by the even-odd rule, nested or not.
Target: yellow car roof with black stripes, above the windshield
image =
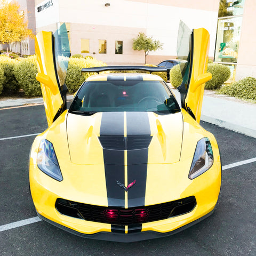
[[[164,81],[163,78],[157,75],[151,75],[146,73],[108,73],[108,74],[99,74],[99,75],[89,76],[86,79],[86,82],[111,81],[111,80],[126,81],[127,77],[129,77],[130,80],[138,80],[138,81]]]

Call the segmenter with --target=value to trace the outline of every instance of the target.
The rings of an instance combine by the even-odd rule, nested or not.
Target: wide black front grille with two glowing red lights
[[[82,204],[58,198],[56,209],[64,215],[88,221],[110,223],[115,225],[131,225],[150,221],[163,220],[188,213],[196,206],[194,196],[176,201],[149,206],[130,207],[104,207]]]

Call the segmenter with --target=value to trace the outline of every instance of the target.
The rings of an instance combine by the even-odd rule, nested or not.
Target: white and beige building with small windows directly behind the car
[[[70,29],[71,54],[90,55],[107,63],[144,62],[143,51],[132,50],[139,32],[162,42],[148,63],[176,58],[179,21],[190,28],[205,27],[214,55],[219,3],[216,0],[46,0],[35,1],[36,28],[55,30],[58,22]],[[213,22],[214,21],[214,22]]]

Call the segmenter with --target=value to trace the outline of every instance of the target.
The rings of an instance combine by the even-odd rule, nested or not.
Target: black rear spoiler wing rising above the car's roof
[[[82,68],[82,73],[100,73],[102,71],[134,71],[142,70],[152,72],[167,72],[166,68],[159,67],[147,67],[147,66],[105,66],[105,67],[94,67],[94,68]]]

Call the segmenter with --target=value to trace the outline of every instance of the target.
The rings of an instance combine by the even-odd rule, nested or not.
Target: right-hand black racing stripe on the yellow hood
[[[147,112],[127,112],[127,140],[129,136],[150,137],[151,130]],[[148,145],[138,150],[127,150],[127,181],[128,184],[136,180],[128,190],[128,207],[145,205]]]

